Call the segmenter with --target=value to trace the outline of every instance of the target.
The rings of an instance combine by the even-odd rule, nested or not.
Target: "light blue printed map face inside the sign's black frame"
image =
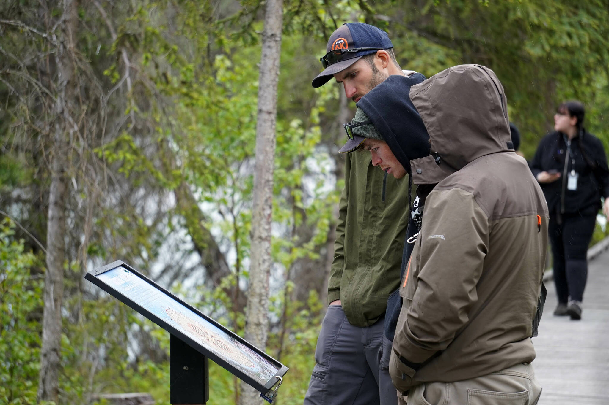
[[[234,336],[176,301],[171,294],[160,290],[123,266],[97,274],[96,278],[263,386],[283,367],[261,356]]]

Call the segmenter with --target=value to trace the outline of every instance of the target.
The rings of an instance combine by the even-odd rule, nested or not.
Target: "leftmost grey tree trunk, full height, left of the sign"
[[[59,372],[62,341],[63,264],[66,257],[66,191],[69,164],[68,136],[77,131],[71,119],[74,63],[70,60],[77,21],[75,0],[61,0],[62,22],[55,53],[56,94],[54,134],[51,141],[51,187],[47,222],[46,274],[44,276],[44,311],[38,401],[59,403]],[[51,5],[49,5],[51,6]],[[49,7],[52,10],[52,7]],[[48,16],[49,20],[51,19]],[[55,33],[51,33],[55,36]],[[49,72],[49,74],[51,74]]]

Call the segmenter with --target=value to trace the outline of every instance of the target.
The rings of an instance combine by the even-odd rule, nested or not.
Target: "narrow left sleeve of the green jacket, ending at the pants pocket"
[[[340,280],[345,267],[345,222],[347,221],[347,199],[349,197],[349,172],[351,170],[351,155],[347,154],[345,161],[345,188],[340,194],[339,221],[336,224],[336,241],[334,242],[334,260],[330,269],[328,281],[328,304],[340,299]]]

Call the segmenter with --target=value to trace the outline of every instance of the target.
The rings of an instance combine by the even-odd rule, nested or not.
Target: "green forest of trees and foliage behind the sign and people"
[[[49,263],[58,403],[169,402],[168,333],[83,280],[115,259],[243,334],[263,19],[259,0],[0,2],[0,403],[37,403]],[[386,30],[426,77],[495,70],[529,159],[567,99],[609,146],[607,1],[285,0],[267,331],[290,367],[281,405],[302,403],[314,365],[354,114],[338,84],[311,80],[351,21]],[[240,402],[236,378],[213,363],[209,376],[209,403]]]

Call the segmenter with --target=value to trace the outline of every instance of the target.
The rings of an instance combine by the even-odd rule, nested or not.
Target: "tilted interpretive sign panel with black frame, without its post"
[[[287,367],[204,315],[121,260],[89,271],[85,279],[182,339],[261,393]]]

